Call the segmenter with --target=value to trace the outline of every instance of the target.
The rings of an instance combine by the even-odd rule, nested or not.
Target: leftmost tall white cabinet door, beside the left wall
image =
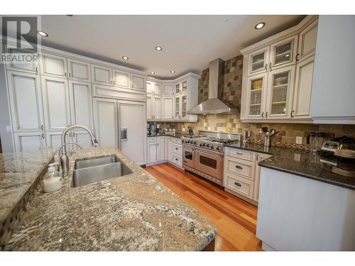
[[[40,77],[7,72],[13,131],[42,131],[44,119]]]

